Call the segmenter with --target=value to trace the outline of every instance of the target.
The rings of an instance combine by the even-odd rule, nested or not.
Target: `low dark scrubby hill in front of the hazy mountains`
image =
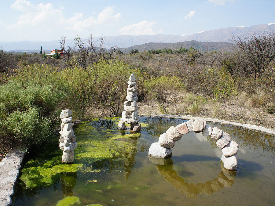
[[[208,45],[208,48],[207,48]],[[229,51],[232,49],[232,44],[229,42],[198,42],[198,41],[186,41],[186,42],[177,42],[177,43],[146,43],[141,45],[130,46],[128,48],[121,48],[122,52],[130,52],[132,49],[138,49],[139,51],[143,50],[152,50],[152,49],[179,49],[180,47],[189,49],[194,47],[199,51],[206,52],[207,49],[209,52],[213,50],[224,50]]]

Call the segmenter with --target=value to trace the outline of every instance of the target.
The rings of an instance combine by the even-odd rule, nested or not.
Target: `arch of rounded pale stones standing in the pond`
[[[216,141],[218,148],[222,150],[223,167],[227,170],[237,170],[238,144],[231,140],[229,134],[217,127],[212,128],[204,120],[191,119],[176,127],[170,127],[166,133],[160,135],[159,142],[152,143],[149,148],[149,155],[157,158],[171,156],[171,148],[175,146],[176,141],[189,131],[202,132],[203,136],[211,136],[211,139]]]

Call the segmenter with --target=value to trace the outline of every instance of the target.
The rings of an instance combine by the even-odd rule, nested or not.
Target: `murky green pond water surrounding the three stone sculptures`
[[[12,205],[275,205],[273,136],[208,122],[239,144],[238,170],[230,172],[222,151],[201,133],[183,135],[171,158],[148,157],[160,134],[184,120],[141,117],[134,134],[118,131],[118,121],[77,125],[74,164],[61,163],[58,136],[32,149]]]

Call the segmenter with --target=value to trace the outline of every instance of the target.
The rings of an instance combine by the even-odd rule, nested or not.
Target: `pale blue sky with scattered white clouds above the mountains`
[[[1,0],[0,42],[191,35],[275,23],[274,0]]]

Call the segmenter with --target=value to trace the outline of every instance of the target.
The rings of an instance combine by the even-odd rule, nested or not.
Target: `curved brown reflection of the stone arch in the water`
[[[217,178],[208,180],[205,183],[197,183],[196,185],[193,183],[188,184],[173,170],[174,163],[171,158],[148,157],[149,161],[157,164],[157,171],[168,183],[171,183],[176,190],[192,199],[196,199],[198,194],[211,195],[218,190],[222,190],[224,187],[231,187],[234,183],[233,179],[236,176],[236,171],[224,169],[221,162],[222,171],[218,174]]]

